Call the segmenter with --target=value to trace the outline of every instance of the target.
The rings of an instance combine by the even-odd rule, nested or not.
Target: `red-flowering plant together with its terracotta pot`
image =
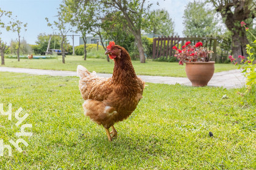
[[[176,50],[176,58],[179,59],[179,64],[186,64],[185,70],[188,79],[192,86],[207,86],[208,82],[213,77],[215,70],[215,61],[210,61],[209,54],[213,53],[202,47],[202,42],[197,42],[194,46],[190,41],[187,41],[182,50],[172,47]]]

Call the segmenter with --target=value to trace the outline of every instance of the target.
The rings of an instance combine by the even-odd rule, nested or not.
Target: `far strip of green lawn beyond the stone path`
[[[186,77],[185,66],[180,66],[178,63],[157,61],[147,61],[144,64],[141,64],[140,61],[132,61],[132,63],[138,75]],[[87,61],[84,61],[82,56],[67,56],[66,64],[63,64],[60,56],[58,59],[51,60],[21,59],[20,62],[16,59],[5,58],[5,67],[76,71],[78,64],[85,66],[90,72],[113,73],[114,62],[112,60],[110,63],[107,60],[96,58],[88,58]],[[237,67],[233,66],[233,64],[215,64],[215,72],[234,69],[237,69]]]

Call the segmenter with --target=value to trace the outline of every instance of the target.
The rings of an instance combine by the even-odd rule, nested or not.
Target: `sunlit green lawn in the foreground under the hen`
[[[19,107],[34,133],[21,137],[29,143],[20,143],[23,152],[4,152],[0,169],[256,169],[256,108],[241,107],[239,89],[146,83],[110,143],[104,128],[84,117],[77,77],[0,77],[0,103],[13,106],[13,121],[0,115],[0,140],[18,140]]]

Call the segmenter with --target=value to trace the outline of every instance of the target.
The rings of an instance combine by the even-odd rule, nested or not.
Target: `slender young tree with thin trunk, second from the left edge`
[[[27,23],[23,24],[23,22],[16,20],[10,21],[10,26],[7,26],[7,30],[11,30],[12,32],[18,33],[18,48],[17,48],[17,58],[20,61],[20,46],[21,46],[21,29],[24,28],[26,31]]]

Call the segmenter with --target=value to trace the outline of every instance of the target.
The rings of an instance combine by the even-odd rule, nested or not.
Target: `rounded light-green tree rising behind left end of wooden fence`
[[[145,19],[148,24],[144,30],[157,35],[169,36],[174,33],[174,22],[169,16],[168,11],[163,9],[153,10]]]

